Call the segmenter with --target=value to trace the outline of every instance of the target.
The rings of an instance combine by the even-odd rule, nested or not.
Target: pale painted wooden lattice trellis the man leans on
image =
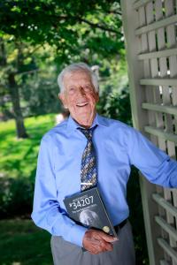
[[[121,0],[135,127],[177,157],[177,0]],[[177,178],[177,172],[176,172]],[[177,190],[141,178],[150,265],[177,265]]]

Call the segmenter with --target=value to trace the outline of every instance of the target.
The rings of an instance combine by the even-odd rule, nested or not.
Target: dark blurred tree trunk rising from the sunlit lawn
[[[16,123],[16,131],[17,131],[17,137],[18,138],[27,138],[27,132],[24,125],[23,116],[20,109],[19,104],[19,87],[15,81],[14,73],[9,73],[8,75],[9,79],[9,91],[10,95],[12,97],[12,106],[13,106],[13,113]]]

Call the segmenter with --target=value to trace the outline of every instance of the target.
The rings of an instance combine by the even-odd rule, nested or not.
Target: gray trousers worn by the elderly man
[[[129,222],[119,231],[119,241],[113,243],[112,252],[89,254],[80,246],[51,237],[51,252],[55,265],[135,265],[135,246]]]

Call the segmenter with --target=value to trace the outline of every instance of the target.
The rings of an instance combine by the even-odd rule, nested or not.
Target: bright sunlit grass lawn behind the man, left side
[[[55,125],[55,115],[25,119],[28,139],[16,138],[14,120],[0,122],[0,176],[35,178],[36,159],[43,133]]]

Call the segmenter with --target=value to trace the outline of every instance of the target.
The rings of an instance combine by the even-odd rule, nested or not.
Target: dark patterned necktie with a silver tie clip
[[[78,128],[87,138],[87,146],[81,158],[81,191],[96,186],[96,150],[92,142],[92,134],[96,126],[90,129]]]

